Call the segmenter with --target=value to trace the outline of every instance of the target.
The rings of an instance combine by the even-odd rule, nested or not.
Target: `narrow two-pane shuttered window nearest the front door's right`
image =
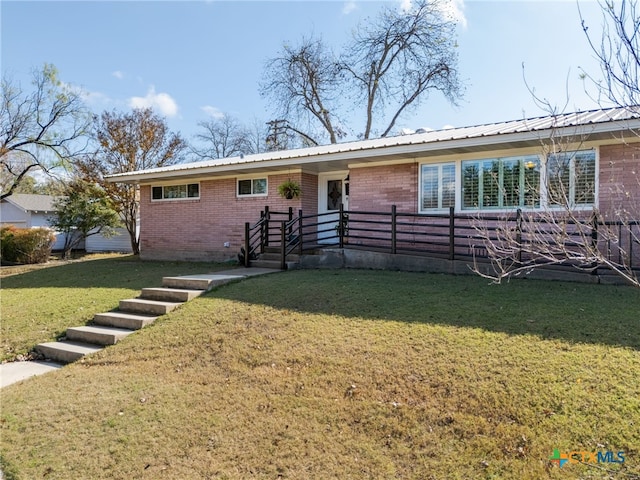
[[[440,163],[420,167],[420,210],[454,207],[456,203],[456,165]]]

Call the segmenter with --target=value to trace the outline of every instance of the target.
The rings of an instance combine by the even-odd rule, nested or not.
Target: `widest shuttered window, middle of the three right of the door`
[[[540,159],[537,155],[462,162],[462,208],[537,208]]]

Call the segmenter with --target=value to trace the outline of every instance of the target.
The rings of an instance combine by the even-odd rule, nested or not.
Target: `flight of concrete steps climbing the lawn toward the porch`
[[[238,278],[236,275],[213,274],[165,277],[162,279],[162,288],[143,288],[138,298],[121,300],[118,310],[97,313],[90,325],[68,328],[64,339],[41,343],[35,349],[45,358],[56,362],[75,362],[108,345],[115,345],[127,335],[215,286]]]

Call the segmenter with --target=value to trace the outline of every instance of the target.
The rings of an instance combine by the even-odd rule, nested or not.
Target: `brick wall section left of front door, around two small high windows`
[[[302,195],[286,200],[278,185],[298,181]],[[151,201],[151,187],[140,191],[140,244],[145,259],[227,260],[237,257],[244,242],[245,222],[256,222],[265,205],[271,211],[292,207],[317,213],[318,182],[310,174],[268,176],[266,197],[237,197],[235,178],[200,183],[200,199]],[[229,242],[229,247],[224,243]]]

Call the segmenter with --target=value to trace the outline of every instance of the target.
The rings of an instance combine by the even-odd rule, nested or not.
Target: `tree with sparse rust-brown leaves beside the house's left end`
[[[104,112],[95,118],[97,149],[77,163],[80,176],[97,182],[107,192],[124,220],[134,254],[140,253],[138,189],[135,185],[105,181],[105,175],[164,167],[182,161],[187,147],[171,133],[164,118],[150,108],[131,113]]]

